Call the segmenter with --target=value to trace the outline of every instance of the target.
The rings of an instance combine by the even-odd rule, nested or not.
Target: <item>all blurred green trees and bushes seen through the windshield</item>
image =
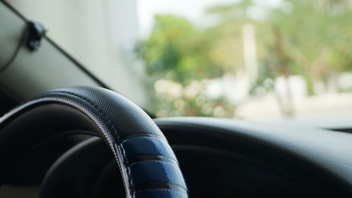
[[[155,16],[153,32],[136,47],[146,73],[154,80],[163,78],[186,87],[193,80],[243,70],[242,28],[246,24],[256,30],[259,64],[258,79],[253,83],[251,94],[258,94],[258,88],[271,92],[276,78],[289,75],[303,76],[308,93],[315,94],[315,80],[326,82],[337,73],[352,70],[351,1],[286,0],[279,7],[260,4],[266,12],[261,19],[249,12],[260,6],[258,2],[243,0],[208,8],[206,13],[218,18],[218,23],[203,30],[185,18]],[[151,93],[155,101],[153,108],[155,111],[167,109],[165,116],[214,116],[213,111],[204,113],[203,106],[196,105],[196,98],[172,99],[153,90]],[[201,92],[197,94],[203,97]],[[175,107],[176,100],[186,102],[183,109]],[[225,116],[233,116],[235,106],[227,99],[206,100],[210,109],[222,106]]]

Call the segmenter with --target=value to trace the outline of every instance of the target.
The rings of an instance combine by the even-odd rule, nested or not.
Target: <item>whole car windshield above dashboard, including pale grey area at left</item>
[[[13,4],[158,117],[352,116],[349,0],[40,2]]]

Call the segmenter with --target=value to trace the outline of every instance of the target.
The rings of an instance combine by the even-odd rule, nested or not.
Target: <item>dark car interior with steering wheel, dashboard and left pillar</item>
[[[0,1],[0,197],[352,197],[352,128],[156,118],[45,32]]]

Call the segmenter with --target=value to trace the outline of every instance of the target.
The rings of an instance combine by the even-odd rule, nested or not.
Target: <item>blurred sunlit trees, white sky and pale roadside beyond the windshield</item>
[[[351,120],[352,1],[138,2],[157,116]]]

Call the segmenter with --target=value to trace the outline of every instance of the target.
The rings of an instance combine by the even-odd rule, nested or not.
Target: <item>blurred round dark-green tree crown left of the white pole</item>
[[[151,36],[137,44],[136,51],[149,75],[186,85],[190,80],[214,78],[223,71],[208,58],[208,40],[188,20],[156,16]]]

